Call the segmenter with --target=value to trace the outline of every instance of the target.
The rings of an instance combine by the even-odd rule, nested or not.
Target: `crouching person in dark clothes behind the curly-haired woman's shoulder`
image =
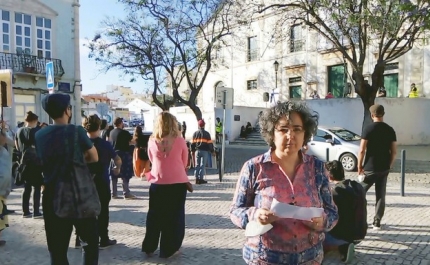
[[[367,201],[363,186],[345,179],[342,163],[337,160],[327,162],[334,203],[337,206],[339,221],[326,232],[324,250],[338,250],[341,260],[349,263],[354,258],[354,243],[361,241],[367,234]]]

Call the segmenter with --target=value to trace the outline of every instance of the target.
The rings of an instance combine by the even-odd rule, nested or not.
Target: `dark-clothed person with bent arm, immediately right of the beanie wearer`
[[[88,164],[91,174],[94,176],[97,193],[100,199],[101,211],[97,218],[97,226],[99,229],[99,247],[101,249],[115,245],[116,240],[109,238],[109,202],[111,200],[109,167],[113,161],[115,167],[111,172],[112,175],[118,175],[121,169],[121,158],[115,153],[112,145],[102,139],[101,136],[102,121],[97,115],[90,115],[84,118],[82,126],[87,131],[87,135],[97,149],[99,161]],[[80,241],[76,240],[76,245],[80,246]]]

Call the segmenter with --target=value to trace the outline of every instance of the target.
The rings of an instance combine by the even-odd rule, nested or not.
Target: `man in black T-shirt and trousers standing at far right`
[[[385,110],[375,104],[369,108],[373,123],[363,129],[358,153],[358,174],[365,175],[361,183],[366,192],[375,184],[375,217],[373,229],[381,229],[385,211],[387,178],[396,159],[396,132],[384,122]]]

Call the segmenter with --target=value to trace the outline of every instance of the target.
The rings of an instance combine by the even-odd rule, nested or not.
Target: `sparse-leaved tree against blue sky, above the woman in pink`
[[[196,99],[212,67],[216,43],[229,34],[232,4],[220,0],[120,0],[129,11],[124,19],[108,18],[103,32],[89,42],[89,57],[103,69],[153,83],[152,99],[162,102],[165,87],[176,101],[202,118]],[[190,93],[183,97],[178,88]],[[163,89],[161,89],[163,88]]]

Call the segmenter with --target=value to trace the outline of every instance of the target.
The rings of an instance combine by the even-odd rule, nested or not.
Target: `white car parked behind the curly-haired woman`
[[[357,157],[361,136],[340,127],[318,127],[316,135],[308,143],[307,154],[314,155],[322,161],[339,160],[346,171],[357,168]]]

